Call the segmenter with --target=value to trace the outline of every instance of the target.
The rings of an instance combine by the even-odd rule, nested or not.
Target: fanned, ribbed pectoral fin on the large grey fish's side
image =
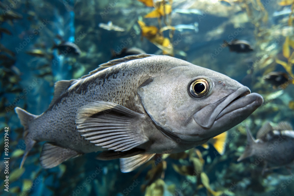
[[[78,131],[96,146],[114,151],[127,151],[147,142],[141,131],[146,118],[116,103],[94,101],[77,111]]]

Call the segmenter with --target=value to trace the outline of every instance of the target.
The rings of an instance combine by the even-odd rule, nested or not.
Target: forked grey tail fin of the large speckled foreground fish
[[[18,115],[21,124],[24,126],[23,137],[26,142],[26,150],[24,152],[24,156],[20,164],[20,167],[22,167],[24,165],[24,161],[26,160],[26,157],[29,154],[29,151],[33,148],[34,144],[36,143],[36,141],[33,138],[33,135],[30,134],[29,125],[32,122],[32,120],[34,120],[38,116],[30,114],[26,110],[23,110],[19,107],[16,107],[14,110],[16,114]]]

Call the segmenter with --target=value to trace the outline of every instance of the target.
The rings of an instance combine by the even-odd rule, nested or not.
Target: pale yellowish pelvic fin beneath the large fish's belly
[[[121,172],[126,173],[126,172],[131,172],[144,163],[146,163],[148,160],[150,160],[155,154],[140,154],[136,155],[133,157],[128,157],[128,158],[120,158],[120,167],[121,167]]]

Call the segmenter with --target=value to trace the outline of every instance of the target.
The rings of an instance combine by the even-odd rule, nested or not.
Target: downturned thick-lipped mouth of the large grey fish
[[[219,100],[214,104],[210,104],[202,108],[201,110],[203,110],[203,112],[206,110],[211,110],[209,118],[207,118],[207,116],[205,118],[204,115],[201,115],[202,112],[199,110],[196,114],[194,114],[194,120],[200,126],[204,128],[210,128],[216,120],[220,119],[228,113],[235,111],[236,115],[245,116],[249,111],[251,114],[263,103],[263,98],[257,93],[250,93],[251,92],[248,87],[242,86],[238,88],[237,91],[231,93],[229,96]],[[246,110],[246,114],[242,114],[242,111],[238,109]],[[205,113],[207,113],[207,111]],[[228,120],[234,118],[235,116],[231,115],[228,117]]]

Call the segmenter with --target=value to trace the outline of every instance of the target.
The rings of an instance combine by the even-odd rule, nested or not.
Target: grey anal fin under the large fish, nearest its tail
[[[78,153],[70,148],[62,148],[46,142],[42,148],[40,163],[43,168],[52,168],[70,158],[74,158],[82,154],[83,153]]]

